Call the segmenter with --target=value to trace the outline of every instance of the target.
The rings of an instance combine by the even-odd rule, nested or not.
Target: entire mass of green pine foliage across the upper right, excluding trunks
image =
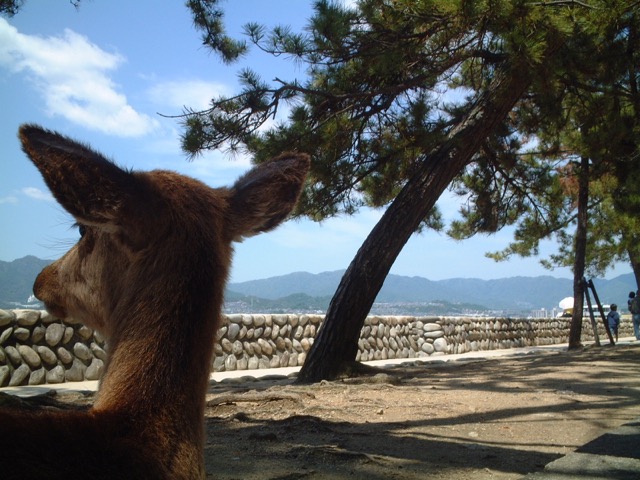
[[[214,35],[205,43],[227,58],[218,2],[189,5],[212,11],[217,29],[206,30]],[[244,150],[257,162],[304,150],[313,165],[298,214],[322,220],[384,207],[506,66],[531,87],[451,185],[464,203],[448,233],[464,239],[514,225],[514,242],[489,254],[496,260],[537,255],[555,236],[561,250],[546,263],[566,265],[571,165],[586,155],[592,184],[611,172],[616,181],[594,187],[590,202],[588,263],[602,273],[638,237],[638,9],[623,0],[362,0],[354,8],[319,0],[302,33],[245,27],[254,47],[304,66],[303,79],[267,83],[243,71],[237,95],[188,112],[183,148]],[[443,95],[446,87],[464,96]],[[265,130],[285,103],[286,121]],[[423,226],[443,227],[437,210]]]

